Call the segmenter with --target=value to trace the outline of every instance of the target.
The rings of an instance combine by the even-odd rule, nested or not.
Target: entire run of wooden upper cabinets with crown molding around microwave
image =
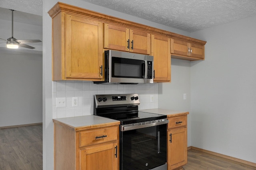
[[[52,80],[104,80],[104,50],[154,56],[155,82],[170,82],[171,57],[204,60],[205,41],[57,2],[52,17]]]

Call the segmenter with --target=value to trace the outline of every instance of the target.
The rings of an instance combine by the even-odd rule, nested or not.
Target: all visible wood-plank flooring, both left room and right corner
[[[42,170],[42,125],[0,129],[0,170]],[[184,170],[256,170],[256,167],[188,150]]]

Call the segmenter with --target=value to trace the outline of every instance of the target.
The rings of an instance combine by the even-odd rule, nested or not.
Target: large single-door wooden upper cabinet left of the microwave
[[[58,6],[48,13],[52,17],[52,80],[102,80],[102,22],[63,12]]]

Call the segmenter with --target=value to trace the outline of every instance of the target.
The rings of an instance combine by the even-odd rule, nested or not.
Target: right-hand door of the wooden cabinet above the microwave
[[[150,55],[150,34],[130,29],[130,52]]]

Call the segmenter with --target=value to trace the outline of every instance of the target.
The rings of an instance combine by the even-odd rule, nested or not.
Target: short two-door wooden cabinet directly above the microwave
[[[150,55],[150,34],[104,23],[104,48]]]

